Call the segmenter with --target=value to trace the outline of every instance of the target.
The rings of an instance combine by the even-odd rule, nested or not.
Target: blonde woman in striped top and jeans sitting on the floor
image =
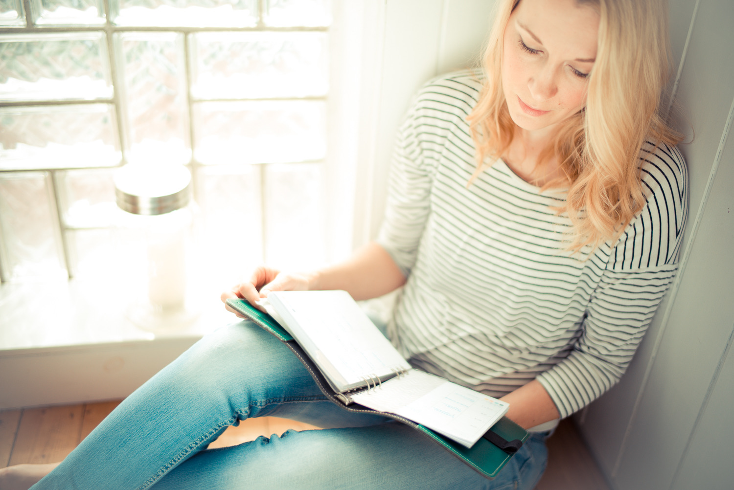
[[[619,380],[675,274],[686,169],[658,115],[664,7],[501,2],[484,77],[455,73],[419,92],[377,241],[319,271],[258,268],[222,294],[368,299],[403,286],[388,324],[401,353],[503,398],[532,431],[498,478],[404,425],[344,412],[242,322],[150,379],[33,488],[533,488],[545,437]],[[331,429],[205,450],[266,415]]]

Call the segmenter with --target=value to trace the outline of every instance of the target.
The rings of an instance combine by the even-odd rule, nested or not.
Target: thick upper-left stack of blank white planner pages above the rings
[[[339,391],[410,365],[346,291],[273,291],[269,302]]]

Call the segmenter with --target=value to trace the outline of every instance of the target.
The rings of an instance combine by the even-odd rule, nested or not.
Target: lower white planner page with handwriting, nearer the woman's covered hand
[[[509,403],[415,369],[352,399],[425,425],[466,447],[473,446],[509,408]]]

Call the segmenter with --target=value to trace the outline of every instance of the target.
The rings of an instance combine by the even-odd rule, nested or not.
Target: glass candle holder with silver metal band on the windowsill
[[[127,316],[150,332],[182,329],[197,318],[186,301],[191,186],[183,165],[128,164],[115,172],[117,206],[135,215],[148,252],[148,294],[132,301]]]

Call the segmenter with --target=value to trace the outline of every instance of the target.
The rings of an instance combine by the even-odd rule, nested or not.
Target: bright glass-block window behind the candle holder
[[[112,172],[161,160],[192,171],[204,282],[321,262],[329,25],[329,0],[0,0],[3,282],[134,274]]]

